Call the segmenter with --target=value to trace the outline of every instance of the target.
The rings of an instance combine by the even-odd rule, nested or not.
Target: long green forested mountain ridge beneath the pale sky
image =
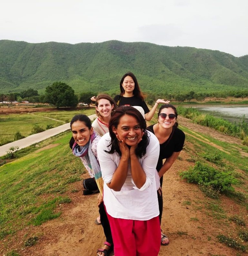
[[[248,87],[248,55],[151,43],[26,43],[0,40],[0,92],[45,91],[62,81],[75,92],[119,91],[131,71],[144,92],[211,92]]]

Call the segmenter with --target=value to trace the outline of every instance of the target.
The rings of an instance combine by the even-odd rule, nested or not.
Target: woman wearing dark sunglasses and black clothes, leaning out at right
[[[157,171],[160,177],[160,189],[158,190],[159,220],[163,213],[162,183],[163,175],[168,171],[184,146],[185,134],[178,128],[177,111],[171,104],[164,104],[158,111],[158,123],[147,127],[158,138],[160,153],[157,163]],[[163,164],[163,159],[166,159]],[[162,231],[162,230],[161,230]],[[169,239],[161,232],[161,245],[168,245]]]

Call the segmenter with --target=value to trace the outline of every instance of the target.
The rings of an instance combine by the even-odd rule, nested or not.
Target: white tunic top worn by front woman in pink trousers
[[[107,147],[110,143],[109,133],[106,133],[97,144],[97,156],[104,180],[104,204],[107,213],[114,218],[127,220],[150,220],[159,215],[156,179],[158,179],[156,165],[159,157],[159,141],[148,131],[149,145],[146,154],[139,162],[146,174],[146,182],[138,189],[131,175],[130,162],[126,181],[120,191],[114,191],[107,186],[119,165],[118,153],[109,154]]]

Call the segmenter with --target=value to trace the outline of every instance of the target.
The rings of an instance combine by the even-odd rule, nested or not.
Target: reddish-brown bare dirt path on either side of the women
[[[198,126],[186,118],[179,118],[179,124],[191,131],[211,135],[213,138],[241,144],[241,140],[220,134],[217,131]],[[197,137],[198,138],[198,137]],[[208,142],[205,138],[201,138]],[[229,216],[239,214],[247,222],[247,213],[240,205],[226,197],[221,198],[220,205],[227,218],[218,219],[211,214],[209,205],[216,202],[203,195],[196,185],[186,183],[178,175],[179,170],[186,170],[193,165],[186,161],[191,156],[190,142],[185,145],[180,159],[164,175],[163,198],[164,212],[162,218],[163,232],[169,237],[170,244],[161,246],[159,256],[233,256],[247,255],[228,248],[218,242],[218,234],[232,234],[235,230]],[[217,145],[216,145],[217,146]],[[83,178],[88,177],[84,174]],[[62,205],[62,215],[38,227],[27,227],[16,235],[15,243],[9,250],[22,248],[25,237],[38,236],[38,243],[21,250],[25,256],[96,256],[97,248],[104,242],[102,226],[95,225],[98,216],[97,195],[83,196],[81,182],[73,183],[72,189],[80,192],[68,193],[70,204]],[[70,191],[70,189],[68,190]],[[128,256],[128,255],[127,255]]]

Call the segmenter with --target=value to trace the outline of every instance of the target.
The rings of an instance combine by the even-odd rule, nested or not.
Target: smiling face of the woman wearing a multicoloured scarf
[[[72,124],[72,137],[79,146],[85,146],[91,134],[93,133],[93,128],[88,128],[84,122],[76,121]]]

